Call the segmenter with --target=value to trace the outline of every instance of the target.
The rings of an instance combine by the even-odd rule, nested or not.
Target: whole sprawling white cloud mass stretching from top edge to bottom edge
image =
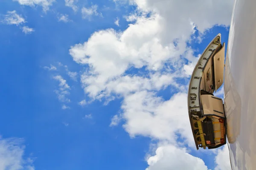
[[[188,42],[203,38],[212,26],[229,26],[233,0],[130,3],[137,12],[126,17],[134,23],[124,31],[96,31],[86,42],[70,48],[73,60],[87,66],[81,75],[84,92],[93,100],[122,97],[121,113],[112,117],[111,126],[122,119],[131,137],[142,135],[168,141],[148,159],[148,170],[207,169],[201,159],[180,147],[195,147],[187,113],[186,82],[199,56],[195,56]],[[216,3],[218,9],[214,8]],[[195,29],[200,37],[195,37]],[[129,74],[131,70],[135,73]],[[157,96],[157,91],[166,87],[179,92],[167,100]],[[182,141],[178,146],[177,140]],[[175,152],[185,158],[184,163],[173,159],[173,164],[167,165]]]

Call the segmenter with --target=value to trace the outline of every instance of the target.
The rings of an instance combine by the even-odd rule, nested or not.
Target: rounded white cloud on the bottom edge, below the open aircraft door
[[[147,159],[146,170],[208,170],[204,161],[187,153],[185,148],[166,144]]]

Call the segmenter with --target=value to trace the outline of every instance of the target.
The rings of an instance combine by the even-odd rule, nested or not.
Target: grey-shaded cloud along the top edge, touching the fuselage
[[[233,9],[234,0],[217,0],[215,3],[220,5],[220,8],[215,11],[212,1],[195,0],[195,1],[159,1],[159,0],[129,0],[130,3],[137,5],[137,9],[142,12],[155,12],[160,14],[166,20],[166,26],[172,30],[171,34],[176,31],[185,33],[189,28],[190,22],[195,23],[198,30],[204,32],[205,29],[211,28],[213,25],[226,25],[230,24],[230,18]],[[186,6],[183,4],[186,3]],[[189,9],[193,8],[193,11]],[[200,9],[200,10],[198,10]],[[196,12],[200,11],[200,12]],[[215,12],[217,12],[217,15]],[[222,11],[222,13],[221,13]],[[224,13],[223,13],[224,11]],[[179,16],[177,16],[179,14]],[[208,20],[211,18],[212,20]],[[183,18],[183,20],[180,20]],[[175,24],[173,24],[175,23]],[[176,28],[175,28],[176,27]],[[183,28],[182,28],[183,27]],[[178,30],[180,29],[180,30]],[[166,30],[167,31],[167,30]],[[173,32],[175,31],[175,32]],[[187,32],[189,33],[189,32]],[[169,34],[168,34],[169,35]],[[180,36],[181,34],[178,34]],[[173,36],[173,35],[172,35]],[[167,36],[166,38],[168,38]]]

